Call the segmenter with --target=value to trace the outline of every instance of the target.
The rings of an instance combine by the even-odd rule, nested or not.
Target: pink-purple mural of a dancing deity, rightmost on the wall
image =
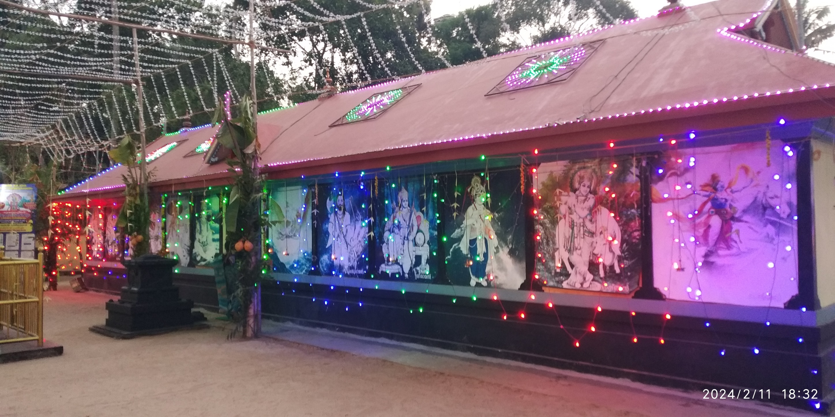
[[[671,150],[652,189],[655,287],[668,299],[783,307],[797,294],[795,150]]]

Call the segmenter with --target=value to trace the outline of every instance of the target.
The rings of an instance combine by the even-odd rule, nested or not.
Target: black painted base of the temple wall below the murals
[[[832,325],[773,324],[763,330],[762,324],[711,320],[706,327],[704,319],[639,313],[630,320],[625,311],[592,314],[587,308],[499,304],[467,295],[453,303],[452,297],[435,294],[276,281],[262,285],[266,319],[681,389],[749,389],[749,396],[757,389],[757,399],[763,389],[762,397],[770,397],[763,400],[822,414],[835,396]],[[791,389],[796,398],[783,398],[792,395]],[[817,399],[798,399],[803,389],[817,389]]]

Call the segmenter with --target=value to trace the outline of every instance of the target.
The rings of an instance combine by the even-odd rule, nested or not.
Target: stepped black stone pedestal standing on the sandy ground
[[[122,287],[122,297],[105,304],[108,318],[104,326],[93,326],[90,331],[119,339],[130,339],[142,334],[159,334],[176,329],[207,327],[200,312],[192,312],[194,302],[180,299],[180,289],[174,286],[171,269],[175,259],[156,254],[144,254],[124,261],[128,269],[128,285]]]

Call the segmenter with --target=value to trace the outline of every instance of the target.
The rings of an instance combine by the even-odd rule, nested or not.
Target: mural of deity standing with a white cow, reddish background
[[[640,285],[640,181],[632,159],[543,163],[536,273],[543,289],[629,294]],[[547,198],[547,199],[546,199]]]

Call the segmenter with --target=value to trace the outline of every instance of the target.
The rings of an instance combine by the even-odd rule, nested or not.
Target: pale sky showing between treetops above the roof
[[[439,18],[444,14],[456,14],[468,8],[475,8],[484,4],[491,3],[493,0],[433,0],[432,2],[432,18]],[[627,0],[629,1],[629,0]],[[708,3],[712,0],[681,0],[686,6],[696,6],[696,4]],[[789,0],[789,3],[794,4],[796,0]],[[657,13],[658,10],[664,7],[666,0],[631,0],[629,3],[638,12],[639,18],[645,18]],[[765,1],[763,1],[765,4]],[[809,0],[808,8],[817,8],[822,6],[830,6],[835,12],[835,0]],[[835,14],[835,13],[833,13]],[[830,16],[832,19],[833,16]],[[824,41],[820,47],[821,49],[835,52],[835,38],[830,38]],[[810,56],[831,63],[835,63],[835,53],[822,53],[819,51],[809,51]]]

